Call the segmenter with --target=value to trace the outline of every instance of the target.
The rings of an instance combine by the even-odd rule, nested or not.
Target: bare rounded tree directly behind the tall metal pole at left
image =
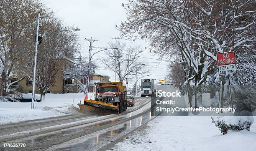
[[[33,28],[35,25],[27,25],[28,38],[20,45],[18,70],[28,80],[33,81],[34,50],[35,41]],[[30,26],[30,27],[29,27]],[[36,86],[41,93],[41,100],[54,85],[57,73],[65,66],[65,61],[73,59],[77,51],[77,35],[73,31],[63,31],[65,28],[59,19],[52,16],[52,13],[43,15],[41,19],[41,30],[43,42],[38,46],[38,60],[36,66]]]

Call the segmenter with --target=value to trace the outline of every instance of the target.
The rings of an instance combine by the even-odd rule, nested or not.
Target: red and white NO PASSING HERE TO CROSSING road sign
[[[219,75],[236,74],[236,56],[235,52],[217,54]]]

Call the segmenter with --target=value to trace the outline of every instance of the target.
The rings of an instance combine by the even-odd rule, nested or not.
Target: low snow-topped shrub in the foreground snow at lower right
[[[253,123],[253,116],[223,116],[211,117],[215,126],[220,128],[220,131],[225,135],[228,130],[243,130],[250,131],[251,124]]]

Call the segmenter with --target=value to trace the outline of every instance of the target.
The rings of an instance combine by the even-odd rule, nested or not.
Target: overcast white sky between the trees
[[[115,25],[119,25],[126,18],[125,10],[122,7],[122,3],[125,2],[125,0],[46,0],[46,4],[56,13],[57,17],[64,20],[66,25],[81,29],[78,33],[83,44],[83,56],[89,54],[89,42],[85,41],[84,38],[98,39],[93,43],[93,46],[106,48],[107,43],[113,41],[113,37],[119,36],[120,32],[115,28]],[[122,41],[127,45],[141,45],[142,48],[149,45],[142,40],[136,40],[134,43],[127,40]],[[150,53],[148,50],[143,51],[143,57],[158,59],[156,54]],[[98,53],[93,58],[103,55],[105,53]],[[146,59],[146,62],[158,62],[154,59]],[[97,65],[100,65],[100,62]],[[147,68],[151,68],[151,73],[146,74],[150,75],[148,78],[154,78],[156,81],[164,79],[168,63],[148,63],[148,65],[150,66]],[[114,72],[104,70],[102,67],[100,70],[111,77],[110,81],[114,81]],[[129,87],[133,85],[135,80],[135,77],[130,80]]]

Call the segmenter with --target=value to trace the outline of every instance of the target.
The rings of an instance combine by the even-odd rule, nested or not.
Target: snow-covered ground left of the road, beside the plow
[[[0,101],[0,124],[64,116],[73,112],[73,106],[79,108],[77,103],[80,103],[80,100],[83,103],[84,97],[84,93],[47,93],[45,101],[36,102],[33,110],[31,103]],[[89,94],[90,97],[94,99],[93,93]]]

